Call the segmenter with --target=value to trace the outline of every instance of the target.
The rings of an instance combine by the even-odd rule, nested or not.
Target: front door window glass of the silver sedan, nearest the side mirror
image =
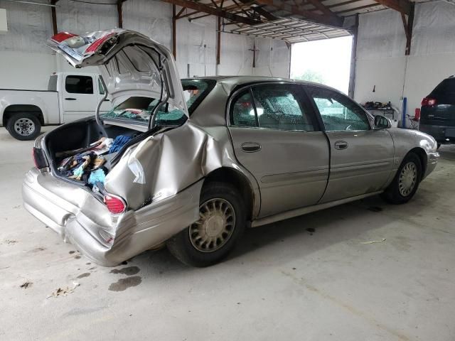
[[[322,87],[308,87],[308,90],[326,131],[370,130],[367,114],[348,97]]]

